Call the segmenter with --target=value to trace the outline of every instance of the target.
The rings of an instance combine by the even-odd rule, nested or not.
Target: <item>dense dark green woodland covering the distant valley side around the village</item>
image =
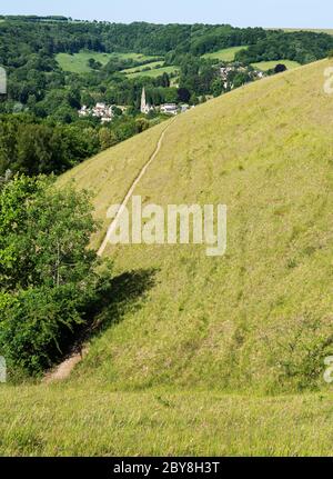
[[[325,33],[269,31],[209,24],[117,24],[83,22],[64,17],[3,17],[0,28],[0,64],[8,72],[8,96],[0,102],[0,174],[7,169],[60,173],[84,158],[149,128],[163,118],[140,118],[142,87],[148,101],[205,101],[225,91],[216,61],[202,54],[244,46],[236,53],[241,64],[263,60],[306,63],[333,50]],[[140,52],[179,69],[178,84],[168,73],[157,78],[128,78],[121,70],[135,67],[131,58],[117,57],[105,64],[90,60],[85,74],[64,72],[57,53]],[[242,73],[234,87],[251,81]],[[101,127],[93,118],[80,120],[78,109],[97,101],[128,106],[128,113]]]

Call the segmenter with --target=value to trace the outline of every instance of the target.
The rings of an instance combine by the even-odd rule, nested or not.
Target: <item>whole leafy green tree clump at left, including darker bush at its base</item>
[[[0,355],[29,373],[51,366],[95,293],[87,192],[43,177],[0,190]]]

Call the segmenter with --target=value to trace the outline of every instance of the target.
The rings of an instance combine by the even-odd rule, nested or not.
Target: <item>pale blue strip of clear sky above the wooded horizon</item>
[[[64,14],[88,20],[333,28],[332,0],[11,0],[1,14]]]

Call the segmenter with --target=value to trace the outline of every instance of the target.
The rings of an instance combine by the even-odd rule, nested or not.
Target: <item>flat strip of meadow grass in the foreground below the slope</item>
[[[0,455],[332,456],[332,399],[0,388]]]

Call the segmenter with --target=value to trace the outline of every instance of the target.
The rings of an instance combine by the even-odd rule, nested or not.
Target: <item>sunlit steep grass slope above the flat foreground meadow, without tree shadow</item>
[[[135,194],[163,207],[226,204],[226,255],[208,258],[201,246],[110,247],[119,275],[153,270],[154,285],[141,308],[92,342],[79,378],[93,375],[119,388],[321,385],[323,358],[333,350],[327,64],[253,83],[170,127]],[[103,218],[163,128],[81,164],[65,180],[97,189]]]

